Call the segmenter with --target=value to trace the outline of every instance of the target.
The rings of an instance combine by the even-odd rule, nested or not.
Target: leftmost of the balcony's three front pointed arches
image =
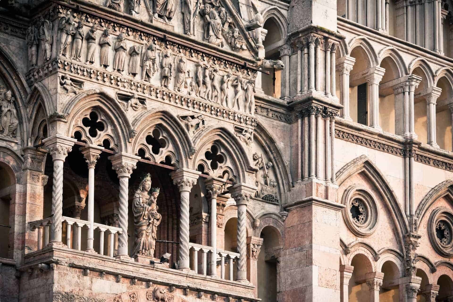
[[[114,129],[115,136],[111,137],[118,144],[118,151],[128,152],[127,142],[133,136],[134,129],[120,107],[118,102],[103,89],[90,89],[83,93],[77,94],[67,102],[63,108],[63,114],[66,114],[68,120],[67,136],[72,136],[72,131],[76,125],[76,119],[84,110],[89,108],[98,108],[103,114],[110,119],[111,127]]]

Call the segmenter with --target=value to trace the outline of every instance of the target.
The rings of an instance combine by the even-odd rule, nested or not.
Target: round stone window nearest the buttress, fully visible
[[[357,236],[367,237],[376,231],[378,211],[376,198],[361,185],[350,186],[343,194],[343,218]]]

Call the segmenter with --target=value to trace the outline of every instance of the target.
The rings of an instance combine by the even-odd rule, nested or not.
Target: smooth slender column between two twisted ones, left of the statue
[[[87,252],[94,252],[94,167],[103,147],[89,145],[80,149],[88,165],[88,221],[90,227],[87,234]]]

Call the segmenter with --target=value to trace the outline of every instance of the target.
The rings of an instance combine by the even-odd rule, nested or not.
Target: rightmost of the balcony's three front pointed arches
[[[205,127],[200,130],[196,136],[193,137],[193,144],[196,148],[193,170],[198,169],[200,161],[204,161],[205,151],[213,143],[218,143],[226,153],[226,160],[230,161],[233,173],[236,173],[236,183],[245,183],[247,173],[255,173],[256,169],[251,166],[250,158],[247,156],[248,152],[244,146],[238,140],[237,136],[231,133],[230,130],[223,126],[213,125],[211,127]],[[216,177],[222,177],[222,175],[215,175]]]

